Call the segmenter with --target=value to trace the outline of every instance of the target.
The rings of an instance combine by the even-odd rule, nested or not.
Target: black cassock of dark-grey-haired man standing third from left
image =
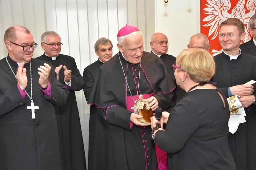
[[[85,78],[84,95],[89,100],[91,90],[100,66],[103,62],[99,59],[84,69],[83,77]],[[107,170],[108,169],[108,136],[109,122],[102,117],[102,113],[96,105],[91,105],[89,121],[89,153],[88,169],[89,170]]]

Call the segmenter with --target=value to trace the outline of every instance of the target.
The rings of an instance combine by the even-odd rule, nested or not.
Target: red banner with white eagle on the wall
[[[200,30],[211,44],[213,56],[222,52],[217,35],[219,24],[228,18],[238,18],[245,25],[247,42],[251,39],[248,31],[249,19],[256,14],[256,0],[200,0]]]

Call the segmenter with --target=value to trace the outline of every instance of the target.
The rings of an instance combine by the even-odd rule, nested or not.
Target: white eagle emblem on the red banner
[[[211,39],[215,39],[219,34],[218,26],[222,21],[225,21],[228,18],[238,18],[240,19],[245,25],[245,32],[246,36],[243,42],[247,42],[251,39],[250,33],[248,31],[249,28],[249,19],[255,14],[256,12],[256,0],[248,0],[246,3],[247,13],[245,6],[245,0],[238,0],[236,6],[232,9],[231,14],[228,12],[231,8],[230,0],[207,0],[205,3],[207,6],[204,8],[204,14],[207,15],[203,19],[203,21],[208,22],[204,24],[204,27],[210,27],[208,32],[208,37]],[[213,56],[221,53],[222,50],[218,51],[213,49],[212,54]]]

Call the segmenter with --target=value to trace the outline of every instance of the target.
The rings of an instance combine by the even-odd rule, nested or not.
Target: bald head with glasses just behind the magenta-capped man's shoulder
[[[151,36],[151,50],[157,55],[163,55],[168,51],[168,39],[163,33],[157,32]]]

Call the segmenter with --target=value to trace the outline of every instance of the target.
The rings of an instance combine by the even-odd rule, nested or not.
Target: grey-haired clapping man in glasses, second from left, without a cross
[[[60,36],[56,32],[43,33],[41,47],[45,52],[36,59],[51,63],[55,67],[58,81],[69,89],[66,104],[55,107],[62,170],[84,170],[86,169],[84,143],[75,91],[83,89],[85,79],[80,74],[73,57],[59,54],[61,46]]]

